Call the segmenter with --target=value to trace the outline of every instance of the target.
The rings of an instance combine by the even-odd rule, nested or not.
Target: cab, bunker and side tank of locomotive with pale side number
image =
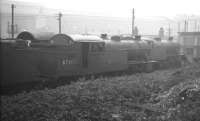
[[[61,37],[63,36],[63,37]],[[124,52],[105,50],[105,42],[93,35],[55,35],[52,47],[40,48],[42,76],[55,78],[124,70]]]

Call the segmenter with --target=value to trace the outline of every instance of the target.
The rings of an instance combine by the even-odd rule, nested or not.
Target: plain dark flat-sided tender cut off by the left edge
[[[25,40],[1,40],[1,84],[37,80],[39,54]]]

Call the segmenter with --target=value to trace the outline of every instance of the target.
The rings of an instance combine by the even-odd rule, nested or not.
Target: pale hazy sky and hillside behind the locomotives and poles
[[[135,25],[142,35],[176,36],[184,30],[200,31],[197,0],[1,0],[1,37],[10,36],[11,4],[15,4],[15,36],[23,30],[58,32],[58,13],[66,34],[130,34],[132,9]]]

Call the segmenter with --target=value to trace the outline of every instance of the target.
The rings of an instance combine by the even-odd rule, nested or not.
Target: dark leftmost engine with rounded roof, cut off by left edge
[[[43,66],[50,63],[50,60],[44,62],[42,59],[44,56],[41,45],[48,45],[51,37],[52,33],[33,34],[24,31],[16,39],[1,40],[1,84],[10,85],[38,81]],[[53,70],[54,68],[51,69],[53,64],[49,65],[48,70]]]

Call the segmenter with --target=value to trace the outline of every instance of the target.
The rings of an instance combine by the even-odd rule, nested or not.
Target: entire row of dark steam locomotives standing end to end
[[[128,69],[152,71],[170,60],[179,63],[179,48],[177,43],[140,37],[105,40],[93,35],[22,32],[15,40],[1,40],[1,83]]]

